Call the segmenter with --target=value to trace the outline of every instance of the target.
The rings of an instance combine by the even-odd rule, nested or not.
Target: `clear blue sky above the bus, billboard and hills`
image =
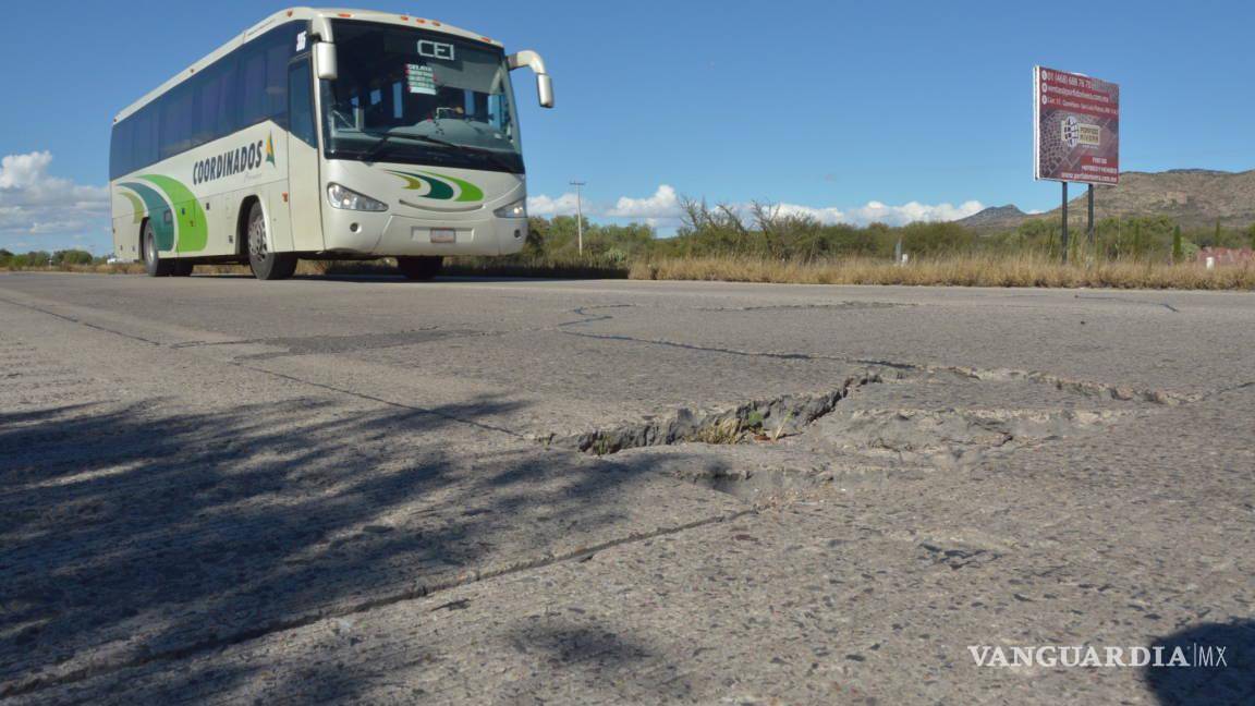
[[[285,6],[8,3],[0,246],[104,253],[112,116]],[[1049,209],[1058,186],[1030,175],[1034,64],[1121,84],[1124,170],[1255,167],[1249,1],[370,6],[546,57],[557,109],[516,74],[540,214],[571,206],[572,178],[597,219],[664,231],[675,195],[852,222]]]

